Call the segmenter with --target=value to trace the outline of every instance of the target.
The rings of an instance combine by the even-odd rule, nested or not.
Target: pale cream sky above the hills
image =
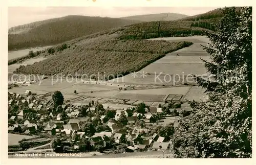
[[[9,7],[8,27],[67,15],[117,18],[143,14],[180,13],[192,16],[216,8],[219,7]]]

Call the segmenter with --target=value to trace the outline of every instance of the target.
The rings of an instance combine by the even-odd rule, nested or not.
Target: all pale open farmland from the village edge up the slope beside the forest
[[[183,48],[176,52],[167,54],[165,57],[153,62],[152,64],[141,69],[136,76],[133,74],[126,75],[121,78],[111,80],[109,82],[83,82],[78,79],[78,82],[67,78],[52,79],[49,77],[39,82],[30,84],[29,86],[15,87],[10,89],[11,92],[24,93],[26,90],[36,92],[37,95],[42,95],[47,92],[53,92],[60,90],[65,97],[65,100],[70,100],[74,103],[88,104],[91,100],[99,101],[104,104],[105,107],[111,105],[112,107],[120,108],[120,104],[123,103],[123,99],[129,100],[126,104],[137,105],[139,102],[145,102],[150,106],[158,106],[159,102],[163,102],[168,96],[174,98],[180,95],[182,100],[200,100],[203,98],[203,90],[197,86],[175,86],[175,87],[163,87],[163,88],[147,88],[137,90],[118,90],[119,87],[127,87],[130,85],[142,85],[152,86],[156,84],[165,85],[177,85],[182,83],[194,83],[191,81],[191,77],[187,78],[187,74],[205,74],[206,70],[200,57],[209,61],[210,58],[204,50],[200,47],[200,44],[206,44],[204,36],[195,37],[169,37],[169,38],[156,38],[165,39],[170,41],[185,40],[196,42],[189,47]],[[154,40],[156,40],[154,39]],[[177,56],[179,54],[179,56]],[[40,58],[39,58],[40,59]],[[32,59],[31,59],[32,60]],[[29,60],[27,60],[29,61]],[[28,63],[26,61],[26,63]],[[32,61],[30,61],[31,63]],[[12,65],[9,65],[9,67]],[[144,72],[144,77],[143,77]],[[159,76],[159,73],[162,74]],[[151,73],[151,74],[147,74]],[[166,76],[165,74],[170,74]],[[177,75],[173,75],[177,74]],[[180,76],[178,76],[180,75]],[[156,79],[156,77],[158,78]],[[42,79],[42,77],[39,77]],[[77,94],[74,94],[74,90]],[[92,91],[92,92],[91,92]],[[104,99],[105,98],[105,99]],[[113,100],[111,100],[111,98]],[[51,99],[51,96],[49,97]],[[176,97],[176,99],[178,99]],[[179,100],[178,99],[178,100]],[[113,106],[114,105],[114,106]],[[125,107],[129,105],[124,105]],[[124,107],[123,107],[124,108]]]

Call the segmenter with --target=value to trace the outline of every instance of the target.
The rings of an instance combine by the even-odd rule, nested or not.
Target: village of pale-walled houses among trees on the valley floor
[[[60,91],[51,97],[38,98],[30,90],[22,95],[8,91],[9,136],[28,136],[9,145],[9,152],[168,151],[178,117],[189,113],[177,101],[165,101],[156,107],[141,102],[114,109],[94,100],[89,104],[71,103]],[[165,124],[166,117],[173,123]]]

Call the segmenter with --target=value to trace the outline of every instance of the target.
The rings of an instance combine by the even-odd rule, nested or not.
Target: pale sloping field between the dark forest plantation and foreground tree
[[[129,74],[122,78],[114,79],[115,82],[178,85],[182,83],[193,83],[193,81],[190,81],[191,78],[186,75],[208,75],[200,59],[201,57],[206,61],[210,61],[208,54],[200,46],[200,44],[206,45],[209,42],[209,39],[205,36],[167,37],[150,40],[191,41],[194,44],[166,54],[164,57],[141,69],[136,76]],[[143,76],[142,74],[145,75]]]

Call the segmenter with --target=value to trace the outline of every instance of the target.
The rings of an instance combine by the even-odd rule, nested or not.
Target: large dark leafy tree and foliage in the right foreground
[[[179,121],[178,158],[252,157],[252,8],[223,12],[217,32],[208,34],[212,61],[204,61],[216,79],[197,78],[208,99],[189,102],[193,111]]]

